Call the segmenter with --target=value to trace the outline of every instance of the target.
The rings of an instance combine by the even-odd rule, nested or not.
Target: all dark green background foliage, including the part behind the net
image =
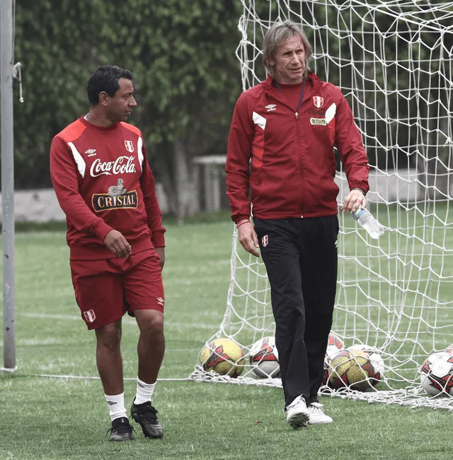
[[[417,21],[405,20],[406,10],[396,4],[373,10],[292,1],[300,10],[286,16],[282,1],[256,1],[253,8],[259,18],[302,18],[319,56],[311,67],[343,88],[372,165],[415,168],[430,194],[437,190],[445,197],[453,161],[448,141],[453,35],[442,4],[445,0],[421,2]],[[23,63],[25,90],[25,103],[15,107],[16,187],[50,187],[52,136],[88,111],[90,73],[101,64],[117,64],[134,72],[139,108],[130,122],[142,129],[171,212],[180,219],[193,213],[191,159],[226,151],[241,91],[236,49],[245,5],[240,0],[16,0],[15,61]],[[424,32],[422,23],[430,24]],[[320,27],[315,30],[314,24]],[[261,47],[266,27],[248,22],[253,47]],[[344,39],[345,30],[354,40]],[[257,74],[265,78],[260,56]]]

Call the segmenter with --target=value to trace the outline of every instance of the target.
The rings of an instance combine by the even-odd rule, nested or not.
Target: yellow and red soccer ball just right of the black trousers
[[[348,387],[366,391],[381,378],[369,355],[360,350],[340,350],[332,357],[330,365],[328,385],[333,389]]]

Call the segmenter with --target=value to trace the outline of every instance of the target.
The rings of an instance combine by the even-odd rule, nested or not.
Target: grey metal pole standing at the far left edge
[[[3,370],[16,370],[14,311],[13,0],[0,0]]]

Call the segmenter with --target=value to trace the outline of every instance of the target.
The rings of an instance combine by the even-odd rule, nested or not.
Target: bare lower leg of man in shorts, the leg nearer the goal
[[[158,310],[134,310],[140,329],[137,353],[139,355],[138,377],[142,382],[154,384],[164,358],[164,313]]]

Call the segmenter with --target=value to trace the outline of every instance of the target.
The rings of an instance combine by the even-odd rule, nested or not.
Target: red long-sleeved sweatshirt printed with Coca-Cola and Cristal
[[[110,230],[121,232],[132,252],[165,246],[154,177],[135,126],[77,119],[52,140],[50,175],[72,260],[114,258],[103,243]]]

